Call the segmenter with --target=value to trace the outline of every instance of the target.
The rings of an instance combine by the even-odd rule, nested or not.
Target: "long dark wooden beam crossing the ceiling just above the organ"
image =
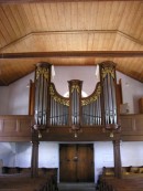
[[[73,51],[73,52],[30,52],[30,53],[0,53],[4,59],[32,57],[143,57],[143,51]]]

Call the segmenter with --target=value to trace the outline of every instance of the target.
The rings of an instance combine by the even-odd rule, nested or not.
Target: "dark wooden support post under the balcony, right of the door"
[[[121,155],[120,155],[120,140],[113,140],[114,153],[114,177],[121,178]]]

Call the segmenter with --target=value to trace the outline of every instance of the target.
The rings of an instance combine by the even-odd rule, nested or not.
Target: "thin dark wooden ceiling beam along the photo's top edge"
[[[0,0],[0,3],[25,3],[25,2],[79,2],[82,0]],[[99,0],[86,0],[86,1],[99,1]],[[100,1],[122,1],[122,0],[100,0]],[[134,1],[134,0],[124,0]]]

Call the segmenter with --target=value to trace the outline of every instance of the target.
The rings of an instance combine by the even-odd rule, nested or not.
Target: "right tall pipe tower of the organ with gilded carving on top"
[[[116,64],[112,62],[105,62],[99,66],[101,81],[102,125],[106,125],[109,129],[118,128]]]

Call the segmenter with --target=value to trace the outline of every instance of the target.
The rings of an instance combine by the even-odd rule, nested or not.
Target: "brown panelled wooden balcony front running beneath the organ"
[[[42,131],[41,141],[103,141],[112,140],[117,137],[123,141],[143,141],[143,114],[121,115],[121,130],[110,137],[110,131],[103,130],[103,126],[82,127],[74,136],[69,127],[50,127]],[[31,141],[31,127],[34,117],[28,115],[0,116],[0,141]]]

